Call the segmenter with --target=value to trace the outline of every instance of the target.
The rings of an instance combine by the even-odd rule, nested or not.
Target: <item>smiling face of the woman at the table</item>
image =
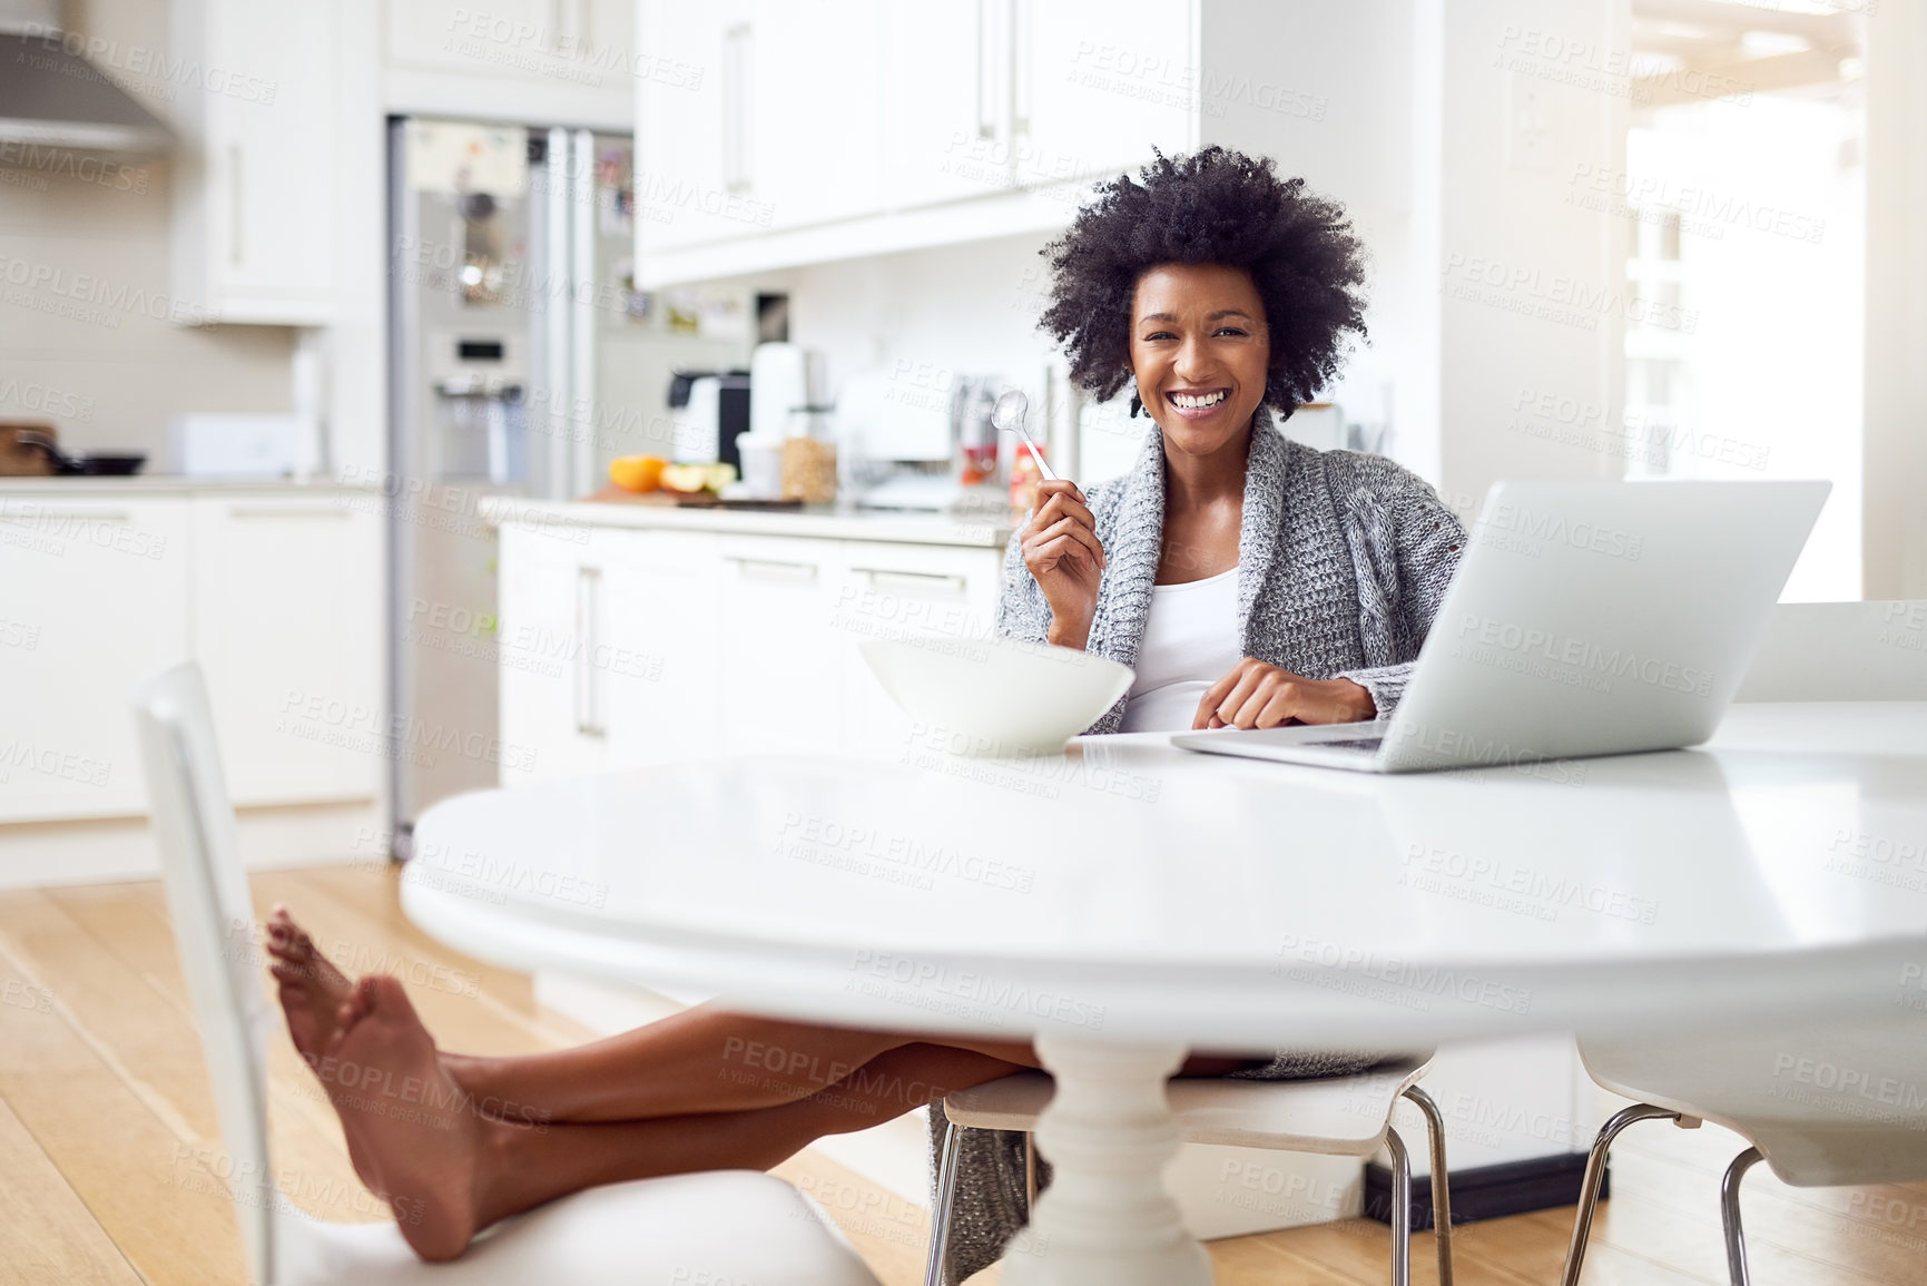
[[[1160,264],[1137,280],[1131,372],[1166,451],[1212,455],[1264,401],[1272,343],[1251,278],[1224,264]]]

